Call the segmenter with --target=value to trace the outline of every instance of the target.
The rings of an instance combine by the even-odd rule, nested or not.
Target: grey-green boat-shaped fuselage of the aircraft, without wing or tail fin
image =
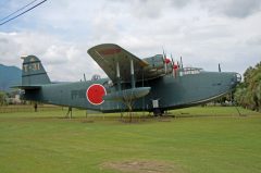
[[[136,87],[150,87],[150,92],[134,101],[133,111],[152,111],[152,100],[159,100],[159,108],[171,110],[211,101],[233,90],[238,83],[236,73],[204,72],[179,73],[174,77],[171,73],[162,77],[137,82]],[[101,112],[127,111],[122,101],[105,100],[101,104],[91,104],[86,96],[92,84],[104,86],[107,94],[117,90],[109,78],[98,81],[61,83],[41,85],[40,89],[25,90],[24,98],[45,103],[97,110]],[[130,88],[122,84],[122,89]]]

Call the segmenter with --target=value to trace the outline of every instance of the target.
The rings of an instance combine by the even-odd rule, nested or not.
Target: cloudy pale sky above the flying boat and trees
[[[0,18],[30,1],[0,1]],[[260,21],[260,0],[48,0],[0,26],[0,63],[35,54],[53,81],[105,76],[87,49],[113,42],[140,58],[164,47],[186,66],[244,73],[261,61]]]

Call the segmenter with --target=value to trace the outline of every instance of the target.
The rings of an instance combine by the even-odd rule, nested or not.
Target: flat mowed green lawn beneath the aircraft
[[[72,120],[66,110],[1,113],[0,173],[261,172],[261,113],[240,112],[196,107],[170,112],[176,118],[138,114],[134,123],[80,110]],[[116,168],[126,162],[161,164]]]

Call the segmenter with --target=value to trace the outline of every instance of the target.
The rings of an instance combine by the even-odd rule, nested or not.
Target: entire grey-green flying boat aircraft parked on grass
[[[40,60],[23,57],[22,98],[100,112],[167,110],[202,104],[226,95],[240,82],[234,72],[184,67],[165,53],[139,59],[114,44],[90,48],[88,54],[108,78],[52,83]]]

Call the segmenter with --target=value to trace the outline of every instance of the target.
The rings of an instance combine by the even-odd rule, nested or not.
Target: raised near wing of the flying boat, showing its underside
[[[123,83],[130,83],[130,60],[134,63],[134,75],[136,81],[159,77],[151,70],[152,67],[145,60],[141,60],[114,44],[102,44],[88,50],[89,55],[100,65],[105,74],[116,81],[116,66],[120,66],[120,77]]]

